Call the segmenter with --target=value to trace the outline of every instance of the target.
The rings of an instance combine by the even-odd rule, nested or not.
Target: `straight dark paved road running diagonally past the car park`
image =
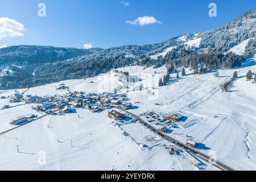
[[[151,129],[154,129],[155,131],[158,131],[158,129],[155,129],[154,127],[152,127],[151,125],[149,125],[146,121],[144,121],[141,117],[138,117],[137,115],[127,111],[127,110],[124,110],[120,107],[115,107],[116,109],[119,109],[121,111],[124,111],[125,113],[127,114],[130,114],[134,119],[138,119],[141,123],[143,123],[144,125],[146,125],[147,127],[150,127]],[[190,146],[188,146],[187,144],[184,144],[182,142],[180,142],[179,140],[177,139],[174,139],[172,137],[170,137],[169,135],[163,133],[163,132],[159,132],[160,134],[163,135],[163,138],[168,140],[169,142],[172,142],[174,144],[176,144],[177,146],[183,148],[185,151],[187,152],[193,152],[193,155],[197,156],[198,158],[200,159],[203,159],[207,162],[210,162],[211,164],[213,164],[213,166],[216,166],[217,168],[221,169],[222,171],[234,171],[234,169],[230,168],[229,166],[227,166],[226,164],[224,163],[221,163],[220,161],[218,160],[214,160],[212,159],[210,156],[208,155],[205,155],[203,154],[202,152],[200,152],[199,150],[196,150],[196,148],[192,148]]]

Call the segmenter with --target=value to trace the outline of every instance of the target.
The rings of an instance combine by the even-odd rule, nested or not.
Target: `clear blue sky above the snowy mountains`
[[[46,17],[38,16],[41,2],[46,4]],[[208,15],[211,2],[217,5],[217,17]],[[6,32],[0,19],[0,46],[108,48],[159,43],[221,27],[249,10],[256,10],[255,0],[0,0],[0,17],[19,23],[15,31],[23,35],[1,36]],[[143,16],[151,17],[152,24],[135,24]]]

